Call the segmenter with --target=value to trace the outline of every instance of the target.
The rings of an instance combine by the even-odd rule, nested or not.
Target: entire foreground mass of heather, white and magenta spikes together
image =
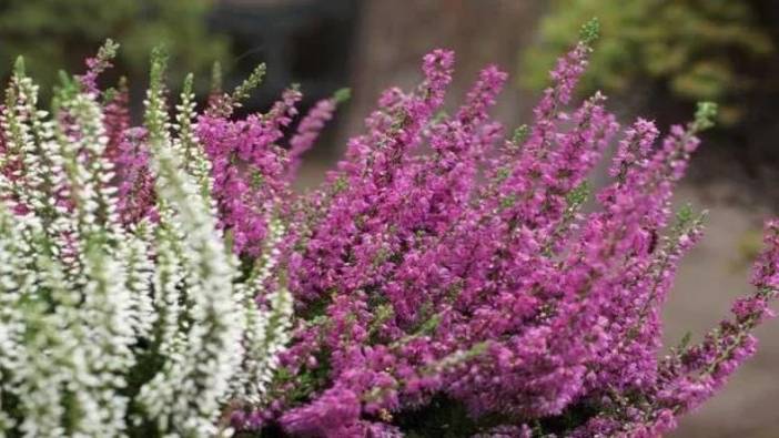
[[[295,86],[266,113],[236,114],[263,67],[196,116],[189,79],[171,125],[158,54],[139,129],[121,90],[98,91],[108,51],[60,91],[50,122],[20,98],[31,93],[17,91],[18,73],[3,120],[0,334],[24,354],[0,353],[4,427],[36,435],[44,412],[65,428],[45,430],[95,427],[87,435],[672,429],[753,353],[779,291],[779,223],[767,226],[757,293],[699,344],[664,355],[660,307],[704,222],[674,215],[670,197],[715,108],[657,145],[643,119],[619,134],[599,93],[569,110],[596,31],[585,27],[533,125],[508,139],[488,115],[506,74],[484,69],[447,115],[454,54],[433,51],[422,84],[385,92],[337,170],[303,195],[291,181],[342,94],[293,130]],[[585,210],[587,174],[615,140],[613,181]],[[51,388],[60,405],[37,396]]]

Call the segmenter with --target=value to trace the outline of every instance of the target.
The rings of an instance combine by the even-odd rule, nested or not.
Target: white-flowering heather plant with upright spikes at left
[[[156,55],[145,128],[112,135],[111,104],[101,104],[94,80],[114,51],[109,42],[87,74],[65,78],[51,112],[38,108],[21,59],[6,91],[3,437],[226,434],[222,407],[262,397],[287,339],[291,296],[262,283],[277,254],[269,249],[242,272],[216,228],[209,163],[191,155],[184,164],[196,142],[191,83],[171,126]],[[112,139],[123,139],[120,146],[139,136],[143,146],[109,153]],[[115,164],[125,177],[119,187]],[[133,196],[154,214],[127,222]],[[270,230],[274,242],[282,225]]]

